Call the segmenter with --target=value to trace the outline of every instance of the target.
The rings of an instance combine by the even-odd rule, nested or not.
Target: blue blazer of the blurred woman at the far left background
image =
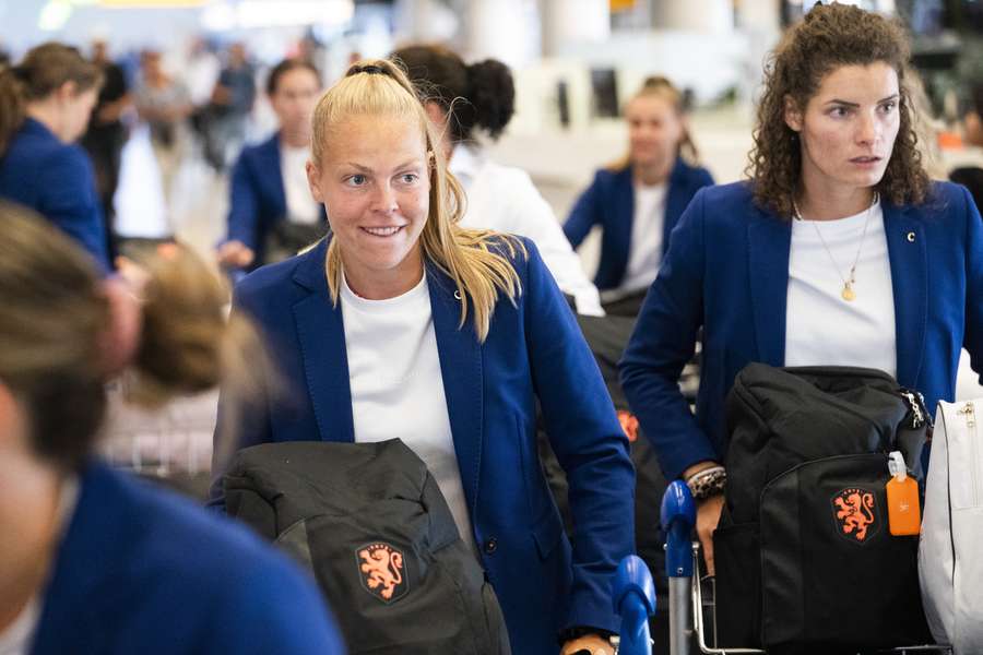
[[[106,225],[92,162],[28,118],[0,157],[0,198],[31,207],[87,250],[103,272],[110,270]]]

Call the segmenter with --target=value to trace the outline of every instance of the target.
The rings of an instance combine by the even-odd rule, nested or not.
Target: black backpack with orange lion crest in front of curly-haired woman
[[[931,643],[917,536],[890,534],[885,491],[890,451],[924,480],[920,396],[872,369],[751,364],[726,416],[720,644],[853,654]]]

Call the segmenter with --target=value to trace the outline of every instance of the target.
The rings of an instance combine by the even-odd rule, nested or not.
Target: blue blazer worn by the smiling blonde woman
[[[633,550],[635,472],[573,314],[535,246],[523,242],[529,258],[514,260],[522,295],[514,307],[498,302],[484,344],[470,315],[459,325],[451,279],[428,265],[427,284],[481,563],[501,604],[512,652],[544,655],[558,652],[561,629],[618,630],[611,576]],[[289,397],[297,400],[273,403],[268,416],[241,421],[238,448],[354,440],[342,306],[332,306],[328,290],[327,243],[264,266],[236,287],[237,310],[260,325],[292,384]],[[569,478],[577,526],[572,552],[540,465],[537,398]],[[218,493],[213,487],[216,501]]]

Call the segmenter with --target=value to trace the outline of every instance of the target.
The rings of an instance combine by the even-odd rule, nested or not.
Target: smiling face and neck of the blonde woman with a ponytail
[[[419,123],[352,116],[308,164],[315,200],[324,203],[352,289],[369,299],[411,289],[423,272],[419,235],[429,211],[429,165]]]

